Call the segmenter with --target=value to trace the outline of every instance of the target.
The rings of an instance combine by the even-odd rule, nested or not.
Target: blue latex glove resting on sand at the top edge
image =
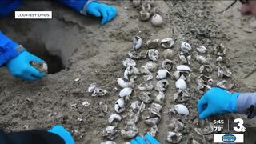
[[[105,25],[106,22],[110,22],[117,14],[117,10],[114,6],[108,6],[100,2],[90,2],[86,7],[86,12],[97,18],[102,16],[101,25]]]

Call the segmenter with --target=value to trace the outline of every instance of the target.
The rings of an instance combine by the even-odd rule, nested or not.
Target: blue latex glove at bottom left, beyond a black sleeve
[[[48,130],[50,133],[58,134],[66,144],[74,144],[74,139],[69,131],[67,131],[63,126],[54,126],[50,130]]]

